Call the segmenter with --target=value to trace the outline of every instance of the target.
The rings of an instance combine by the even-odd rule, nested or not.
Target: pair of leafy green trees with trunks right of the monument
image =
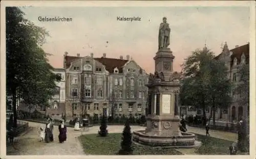
[[[213,52],[205,47],[193,51],[182,64],[184,78],[181,81],[181,104],[201,108],[204,125],[206,104],[212,105],[212,108],[226,108],[231,100],[231,83],[225,75],[225,65],[214,57]],[[215,124],[215,113],[213,114]]]

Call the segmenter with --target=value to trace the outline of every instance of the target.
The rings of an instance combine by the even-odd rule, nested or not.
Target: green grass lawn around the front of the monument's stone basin
[[[232,144],[231,141],[206,137],[196,134],[197,140],[202,142],[202,145],[197,148],[192,148],[189,152],[201,155],[229,155],[228,147]],[[83,150],[91,155],[116,155],[120,149],[122,134],[109,134],[107,137],[98,137],[97,134],[88,134],[79,137]],[[172,148],[154,148],[133,145],[134,155],[179,155],[181,152]],[[193,150],[194,149],[194,150]],[[184,150],[184,149],[183,149]],[[187,149],[188,150],[188,149]],[[186,153],[189,154],[189,153]],[[238,153],[244,154],[244,153]]]

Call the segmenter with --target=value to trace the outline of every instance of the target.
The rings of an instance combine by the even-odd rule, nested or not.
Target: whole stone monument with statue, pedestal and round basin
[[[170,28],[163,17],[159,27],[155,73],[150,74],[148,87],[148,115],[146,129],[134,131],[133,142],[141,145],[194,147],[195,135],[179,129],[179,74],[173,72],[175,56],[168,48]]]

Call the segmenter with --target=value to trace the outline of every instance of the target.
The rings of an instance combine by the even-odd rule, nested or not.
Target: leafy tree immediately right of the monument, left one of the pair
[[[209,99],[209,63],[213,58],[213,52],[205,47],[193,51],[192,55],[188,56],[182,64],[182,75],[184,76],[181,88],[182,103],[201,108],[204,119],[206,119],[205,105]],[[205,124],[205,120],[203,120],[203,124]]]

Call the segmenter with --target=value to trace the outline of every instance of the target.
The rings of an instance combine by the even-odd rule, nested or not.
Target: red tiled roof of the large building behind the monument
[[[72,56],[66,56],[66,68],[69,68],[72,61],[81,59],[82,57],[72,57]],[[94,58],[94,60],[97,60],[98,62],[102,63],[105,66],[105,69],[109,71],[110,73],[114,73],[114,68],[117,67],[119,73],[122,73],[122,66],[128,62],[128,60],[122,60],[122,59],[111,59],[111,58]]]

